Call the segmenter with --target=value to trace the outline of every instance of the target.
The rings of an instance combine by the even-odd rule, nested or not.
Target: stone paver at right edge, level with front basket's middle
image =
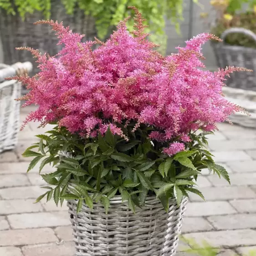
[[[207,220],[217,230],[256,228],[256,214],[210,216]]]

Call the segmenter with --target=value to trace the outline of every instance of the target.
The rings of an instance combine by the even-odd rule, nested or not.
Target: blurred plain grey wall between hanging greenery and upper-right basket
[[[186,40],[189,39],[189,36],[191,35],[196,36],[197,34],[208,32],[208,27],[204,24],[203,20],[200,18],[201,12],[209,12],[210,11],[210,0],[199,0],[198,1],[201,5],[204,5],[204,9],[200,5],[193,4],[193,12],[192,17],[190,18],[189,15],[189,4],[190,0],[184,0],[184,13],[183,17],[184,20],[180,22],[180,30],[181,34],[178,35],[175,31],[175,27],[170,24],[169,21],[167,21],[166,24],[166,33],[168,36],[167,41],[167,55],[176,52],[175,49],[176,46],[184,46]],[[189,26],[189,21],[192,20],[192,25]],[[191,32],[189,33],[189,28],[191,27]],[[203,46],[203,53],[206,58],[205,65],[209,69],[215,69],[216,68],[216,61],[215,56],[213,54],[213,51],[210,47],[210,43],[206,43]]]

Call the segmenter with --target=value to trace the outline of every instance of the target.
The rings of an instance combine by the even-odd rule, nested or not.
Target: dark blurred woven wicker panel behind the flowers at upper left
[[[84,15],[83,10],[75,9],[73,15],[68,15],[64,5],[59,0],[51,1],[52,20],[63,21],[64,26],[70,26],[74,32],[85,34],[84,40],[93,40],[96,35],[95,22],[90,16]],[[48,52],[54,56],[61,49],[57,46],[57,36],[51,31],[48,25],[33,25],[38,20],[45,19],[42,12],[35,11],[33,14],[26,14],[23,21],[19,15],[7,14],[0,10],[0,31],[1,41],[4,53],[4,62],[8,65],[17,61],[30,61],[35,65],[35,59],[28,51],[17,51],[15,47],[28,46],[39,49],[42,53]],[[39,70],[33,69],[33,75]]]

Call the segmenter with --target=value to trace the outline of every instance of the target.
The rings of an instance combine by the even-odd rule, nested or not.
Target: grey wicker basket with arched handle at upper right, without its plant
[[[227,66],[246,67],[253,72],[234,72],[226,81],[227,86],[256,91],[256,48],[243,46],[230,46],[225,44],[225,38],[230,33],[243,33],[255,40],[256,34],[244,28],[230,28],[221,35],[223,42],[212,43],[217,64],[219,67]]]

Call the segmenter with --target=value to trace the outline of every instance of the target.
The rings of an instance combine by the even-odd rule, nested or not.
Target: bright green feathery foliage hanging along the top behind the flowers
[[[4,9],[10,15],[20,15],[22,19],[34,11],[44,13],[46,19],[51,18],[51,3],[53,0],[0,0],[0,10]],[[76,8],[86,15],[95,18],[97,36],[104,39],[109,28],[116,26],[120,20],[130,15],[128,6],[136,6],[145,19],[148,20],[148,31],[151,40],[160,43],[165,48],[166,35],[164,31],[165,18],[171,20],[179,32],[179,20],[182,20],[183,0],[61,0],[67,14],[72,15]],[[197,2],[197,0],[194,0]],[[132,21],[128,29],[132,30]],[[165,43],[164,43],[165,42]]]

